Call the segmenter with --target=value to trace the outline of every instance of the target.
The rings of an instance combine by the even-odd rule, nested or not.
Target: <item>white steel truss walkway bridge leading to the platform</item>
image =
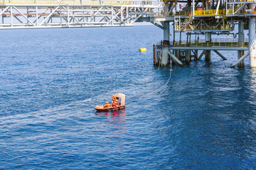
[[[0,29],[133,26],[159,0],[1,0]]]

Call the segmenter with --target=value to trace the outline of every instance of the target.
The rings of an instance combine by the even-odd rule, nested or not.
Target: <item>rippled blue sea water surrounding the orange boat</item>
[[[0,169],[256,169],[256,70],[212,53],[173,66],[164,86],[170,68],[152,64],[162,34],[1,30]],[[144,97],[93,109],[117,92]]]

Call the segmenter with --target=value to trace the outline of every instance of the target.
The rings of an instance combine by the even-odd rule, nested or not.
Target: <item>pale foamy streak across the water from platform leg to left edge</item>
[[[157,71],[160,69],[160,63],[161,63],[161,62],[159,62],[159,67],[158,67],[158,69],[156,69],[154,72],[151,72],[150,74],[147,74],[145,77],[141,77],[141,78],[139,78],[139,79],[145,79],[146,77],[149,77],[151,74],[154,74],[155,72],[157,72]],[[112,91],[119,91],[119,90],[121,90],[121,89],[124,89],[124,88],[127,87],[127,86],[131,86],[132,84],[135,84],[139,79],[137,79],[136,81],[132,81],[132,83],[127,84],[126,86],[123,86],[123,87],[121,87],[121,88],[119,88],[119,89],[114,89],[114,90],[112,90]],[[85,100],[83,100],[83,101],[76,101],[76,102],[68,103],[68,104],[62,105],[62,106],[56,106],[56,107],[53,107],[53,108],[46,108],[46,109],[43,109],[43,110],[40,110],[40,111],[33,111],[33,112],[29,112],[29,113],[21,113],[21,114],[18,114],[18,115],[26,115],[26,114],[31,114],[31,113],[38,113],[38,112],[41,112],[41,111],[50,111],[50,110],[53,110],[53,109],[56,109],[56,108],[67,107],[67,106],[70,106],[70,105],[73,105],[73,104],[82,103],[82,102],[85,102],[85,101],[90,101],[90,100],[92,100],[92,98],[97,98],[97,97],[99,97],[99,96],[102,96],[102,95],[105,95],[105,94],[109,94],[109,93],[112,92],[112,91],[107,91],[107,92],[105,92],[104,94],[99,94],[99,95],[97,95],[97,96],[93,96],[93,97],[91,97],[91,98],[87,98],[87,99],[85,99]],[[6,116],[6,117],[2,117],[2,118],[0,118],[0,119],[11,118],[11,117],[18,116],[18,115],[9,115],[9,116]]]

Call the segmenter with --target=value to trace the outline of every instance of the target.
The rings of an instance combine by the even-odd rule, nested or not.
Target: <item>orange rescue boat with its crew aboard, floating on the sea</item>
[[[125,95],[124,94],[115,94],[113,95],[116,100],[118,101],[117,103],[115,103],[114,101],[112,101],[111,104],[109,104],[108,102],[105,103],[105,105],[97,105],[95,106],[94,108],[97,110],[97,111],[117,111],[117,110],[120,110],[120,109],[123,109],[125,108]],[[120,98],[120,103],[119,103],[119,98]]]

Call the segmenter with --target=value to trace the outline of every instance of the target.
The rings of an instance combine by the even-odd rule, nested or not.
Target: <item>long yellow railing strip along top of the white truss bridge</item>
[[[60,0],[61,4],[113,4],[129,5],[132,1],[104,1],[104,0]],[[58,4],[57,0],[1,0],[0,4]]]

